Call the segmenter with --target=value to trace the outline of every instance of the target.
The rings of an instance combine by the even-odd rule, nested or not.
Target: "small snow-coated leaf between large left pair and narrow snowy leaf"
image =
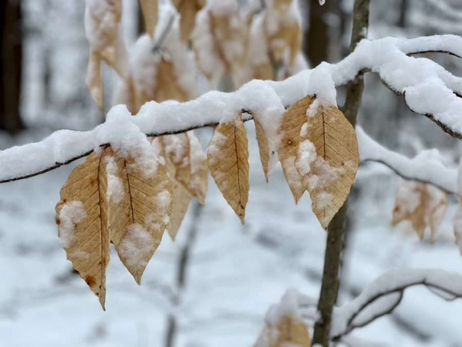
[[[161,137],[165,155],[175,166],[175,179],[185,188],[191,180],[189,137],[186,133]]]

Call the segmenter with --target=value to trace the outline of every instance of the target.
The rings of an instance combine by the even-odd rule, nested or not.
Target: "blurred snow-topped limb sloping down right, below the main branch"
[[[411,159],[390,151],[370,138],[359,125],[356,137],[361,162],[380,162],[405,179],[428,183],[448,193],[457,192],[457,169],[448,169],[433,157],[418,155]]]

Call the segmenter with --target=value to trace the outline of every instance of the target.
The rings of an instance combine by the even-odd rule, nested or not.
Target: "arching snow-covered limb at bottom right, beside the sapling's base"
[[[406,288],[424,285],[444,300],[462,298],[462,276],[436,269],[400,269],[385,273],[353,301],[334,308],[331,336],[338,341],[355,328],[387,315],[400,303]]]

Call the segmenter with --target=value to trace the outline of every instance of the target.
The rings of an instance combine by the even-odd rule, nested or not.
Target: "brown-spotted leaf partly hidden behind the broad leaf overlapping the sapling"
[[[287,184],[295,198],[295,203],[298,203],[305,191],[302,177],[295,167],[295,159],[298,155],[298,145],[300,143],[300,131],[306,122],[306,110],[314,100],[315,98],[307,96],[289,107],[282,117],[279,128],[281,142],[278,148],[278,157]]]

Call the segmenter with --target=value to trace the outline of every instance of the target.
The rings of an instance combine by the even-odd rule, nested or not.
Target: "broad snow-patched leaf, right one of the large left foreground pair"
[[[172,187],[164,167],[143,173],[133,158],[106,160],[111,241],[122,263],[140,284],[147,263],[159,246],[172,210]]]

